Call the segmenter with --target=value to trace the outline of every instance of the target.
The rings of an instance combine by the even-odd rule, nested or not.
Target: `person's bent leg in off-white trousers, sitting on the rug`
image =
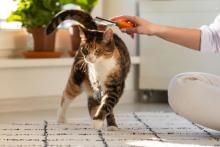
[[[168,87],[168,101],[179,115],[220,130],[220,77],[207,73],[182,73]]]

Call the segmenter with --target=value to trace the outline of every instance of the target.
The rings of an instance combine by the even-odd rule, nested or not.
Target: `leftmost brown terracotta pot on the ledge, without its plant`
[[[50,35],[45,34],[44,28],[29,28],[28,32],[32,33],[34,40],[34,51],[54,51],[56,33]]]

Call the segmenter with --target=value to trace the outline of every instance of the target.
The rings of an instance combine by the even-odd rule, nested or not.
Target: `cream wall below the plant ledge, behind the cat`
[[[135,64],[126,80],[120,103],[135,101]],[[73,58],[1,59],[0,112],[55,109],[69,77]],[[86,106],[87,96],[81,95],[72,106]]]

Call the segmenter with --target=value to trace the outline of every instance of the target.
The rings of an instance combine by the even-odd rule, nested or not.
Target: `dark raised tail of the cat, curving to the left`
[[[81,10],[63,10],[51,20],[46,28],[46,34],[52,33],[57,26],[64,20],[75,20],[82,24],[85,28],[97,30],[97,25],[91,15]]]

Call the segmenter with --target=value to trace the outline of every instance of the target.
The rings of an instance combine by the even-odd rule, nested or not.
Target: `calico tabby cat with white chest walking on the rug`
[[[75,20],[80,32],[80,47],[63,92],[58,122],[65,123],[66,110],[81,92],[88,94],[88,110],[96,129],[107,121],[108,130],[117,130],[113,108],[118,103],[130,69],[130,56],[125,43],[111,28],[99,31],[96,22],[81,10],[64,10],[49,23],[50,34],[64,20]]]

